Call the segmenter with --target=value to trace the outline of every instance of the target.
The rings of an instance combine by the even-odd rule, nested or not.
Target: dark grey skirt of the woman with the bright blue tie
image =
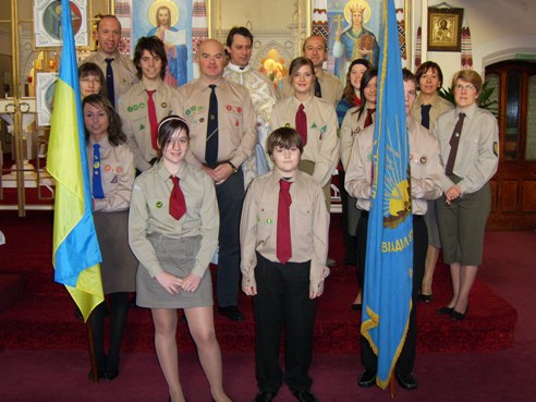
[[[129,210],[94,212],[105,294],[136,290],[137,259],[129,246]]]

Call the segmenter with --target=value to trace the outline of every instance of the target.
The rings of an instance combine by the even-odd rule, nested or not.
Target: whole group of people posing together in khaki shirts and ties
[[[112,380],[119,375],[127,295],[136,292],[136,304],[151,309],[169,400],[185,401],[175,341],[181,308],[212,399],[230,401],[214,325],[208,266],[216,260],[221,315],[243,320],[239,291],[253,296],[254,402],[272,401],[283,381],[296,400],[317,401],[308,371],[316,300],[329,275],[330,182],[339,160],[345,171],[345,259],[360,267],[352,308],[358,309],[363,300],[377,70],[366,60],[353,61],[343,89],[322,68],[325,39],[310,36],[303,56],[292,61],[289,80],[275,88],[248,64],[253,36],[237,27],[226,46],[214,39],[202,42],[196,54],[199,78],[175,88],[165,81],[168,60],[160,38],[142,37],[131,61],[118,51],[117,17],[103,16],[96,35],[98,50],[78,73],[109,307],[103,303],[90,316],[97,369],[90,376]],[[428,268],[427,249],[430,260],[437,260],[440,246],[439,240],[428,240],[428,221],[436,218],[427,210],[437,205],[436,237],[454,285],[452,301],[438,313],[463,319],[480,264],[487,181],[497,168],[497,123],[476,105],[480,77],[471,71],[456,74],[453,108],[438,100],[440,74],[435,63],[423,64],[417,77],[404,71],[415,233],[414,303],[397,366],[397,378],[406,389],[416,388],[416,302],[431,299],[435,260]],[[414,120],[416,105],[423,112]],[[466,118],[463,129],[456,124],[460,112]],[[463,146],[450,139],[454,125]],[[459,149],[453,162],[451,149]],[[428,279],[422,282],[423,275]],[[283,328],[284,371],[279,365]],[[365,343],[365,373],[358,382],[368,387],[375,383],[376,363]]]

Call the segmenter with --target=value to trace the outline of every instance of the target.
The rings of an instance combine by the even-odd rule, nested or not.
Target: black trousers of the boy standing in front
[[[277,392],[282,381],[291,390],[309,389],[313,379],[313,332],[316,300],[309,299],[310,261],[272,263],[257,253],[253,299],[255,365],[259,390]],[[284,375],[279,366],[281,334],[285,333]]]

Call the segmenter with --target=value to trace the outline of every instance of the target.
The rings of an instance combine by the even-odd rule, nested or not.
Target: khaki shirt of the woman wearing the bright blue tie
[[[98,143],[89,138],[86,145],[87,165],[89,169],[89,185],[93,194],[93,157],[95,144],[99,144],[100,175],[105,198],[94,198],[94,210],[118,211],[129,209],[132,185],[134,184],[134,157],[126,144],[113,146],[108,136]]]

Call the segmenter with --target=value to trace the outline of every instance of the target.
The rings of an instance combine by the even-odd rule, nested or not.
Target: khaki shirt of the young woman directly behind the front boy
[[[271,130],[296,126],[296,111],[302,102],[294,96],[276,103],[271,112]],[[307,114],[307,144],[303,148],[303,160],[315,162],[313,178],[325,185],[339,161],[339,121],[334,108],[326,100],[310,96],[304,105]]]

